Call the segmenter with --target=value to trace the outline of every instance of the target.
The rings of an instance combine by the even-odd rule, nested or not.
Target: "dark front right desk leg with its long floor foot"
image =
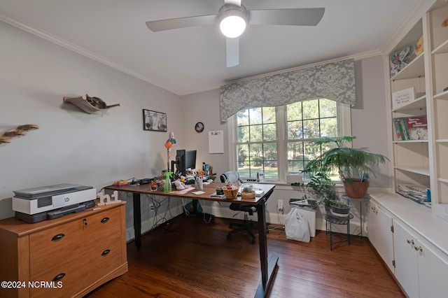
[[[261,281],[258,284],[255,297],[265,297],[269,283],[272,281],[274,269],[278,267],[279,257],[272,255],[269,263],[267,262],[267,232],[266,232],[266,208],[265,201],[260,202],[257,206],[258,214],[258,244],[260,246],[260,265],[261,265]]]

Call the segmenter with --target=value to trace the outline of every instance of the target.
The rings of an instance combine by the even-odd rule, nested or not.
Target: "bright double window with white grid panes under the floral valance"
[[[350,108],[330,99],[309,99],[279,107],[246,108],[229,121],[233,144],[230,169],[242,178],[286,182],[321,155],[313,143],[325,136],[349,135]],[[236,163],[235,163],[236,162]],[[337,177],[335,177],[337,178]]]

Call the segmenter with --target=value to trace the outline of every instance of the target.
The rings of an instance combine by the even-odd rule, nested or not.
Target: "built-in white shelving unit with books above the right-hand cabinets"
[[[393,188],[399,184],[424,185],[430,189],[432,205],[448,204],[448,2],[435,1],[430,10],[410,27],[388,52],[411,51],[423,36],[423,52],[390,78],[391,158]],[[414,55],[415,56],[415,55]],[[414,88],[415,100],[396,107],[394,92]],[[426,115],[428,139],[403,141],[398,138],[394,118]],[[423,207],[422,207],[423,208]]]

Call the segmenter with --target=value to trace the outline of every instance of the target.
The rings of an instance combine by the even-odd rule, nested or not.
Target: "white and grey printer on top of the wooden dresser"
[[[59,218],[94,206],[97,190],[70,183],[16,190],[13,197],[15,218],[25,222]]]

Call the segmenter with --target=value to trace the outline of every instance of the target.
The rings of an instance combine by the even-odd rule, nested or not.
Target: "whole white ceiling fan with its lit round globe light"
[[[165,31],[185,27],[219,24],[226,36],[227,66],[239,64],[239,36],[247,24],[272,24],[291,26],[316,26],[325,8],[288,8],[247,10],[241,0],[224,0],[216,15],[197,15],[146,22],[151,31]]]

